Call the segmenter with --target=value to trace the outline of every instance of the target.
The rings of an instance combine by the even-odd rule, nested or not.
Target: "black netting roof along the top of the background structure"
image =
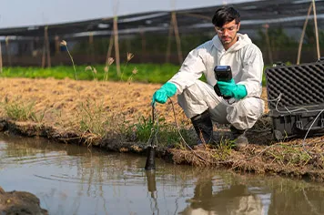
[[[306,0],[271,0],[239,3],[242,27],[258,28],[264,24],[271,26],[302,27],[308,14]],[[211,17],[217,6],[175,11],[179,32],[201,31],[212,27]],[[318,26],[324,25],[324,1],[316,1]],[[152,11],[117,17],[119,34],[145,32],[167,32],[173,11]],[[114,17],[65,23],[48,26],[49,36],[110,35],[113,32]],[[25,26],[0,29],[0,36],[44,36],[45,26]]]

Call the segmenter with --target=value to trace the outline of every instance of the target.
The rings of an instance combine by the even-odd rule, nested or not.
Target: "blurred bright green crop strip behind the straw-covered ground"
[[[86,71],[86,68],[91,67],[91,71]],[[0,77],[28,77],[28,78],[47,78],[54,77],[56,79],[64,79],[66,77],[79,80],[93,80],[99,81],[132,81],[143,83],[158,83],[163,84],[173,77],[180,68],[172,64],[130,64],[127,62],[123,67],[123,76],[118,77],[116,74],[116,65],[112,64],[109,67],[105,65],[94,66],[58,66],[51,68],[41,67],[4,67],[3,73]],[[267,66],[269,67],[269,66]],[[96,68],[96,76],[94,76],[93,68]],[[265,67],[266,68],[266,67]],[[136,69],[137,73],[134,74]],[[109,71],[109,72],[108,72]],[[205,77],[201,78],[205,80]],[[263,76],[262,84],[265,86],[266,77]]]

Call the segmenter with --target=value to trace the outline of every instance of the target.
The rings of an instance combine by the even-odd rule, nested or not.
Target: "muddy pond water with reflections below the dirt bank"
[[[34,193],[49,214],[324,214],[324,185],[174,166],[0,134],[0,186]]]

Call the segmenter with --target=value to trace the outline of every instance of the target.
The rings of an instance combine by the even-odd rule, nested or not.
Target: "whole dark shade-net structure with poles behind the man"
[[[319,26],[319,30],[323,30],[321,27],[324,26],[324,1],[242,0],[238,3],[238,0],[235,0],[235,2],[236,4],[232,5],[238,9],[241,15],[240,32],[247,33],[254,42],[258,42],[266,63],[290,61],[299,64],[300,58],[304,62],[313,62],[319,59],[319,35],[322,34],[318,34],[317,26]],[[316,13],[313,10],[313,2],[316,5]],[[125,55],[125,52],[129,50],[137,52],[133,62],[181,64],[188,51],[198,46],[200,42],[207,40],[203,36],[208,36],[209,39],[210,36],[215,35],[211,19],[219,6],[221,5],[148,11],[55,25],[0,28],[0,42],[5,40],[2,41],[5,45],[2,48],[2,53],[6,56],[3,57],[3,61],[5,65],[9,66],[42,65],[45,67],[47,64],[47,67],[51,67],[52,62],[53,65],[67,64],[68,58],[59,55],[62,51],[60,50],[60,40],[66,40],[72,50],[76,50],[73,47],[81,47],[74,53],[76,62],[104,63],[108,56],[115,56],[117,71],[120,70],[119,62],[122,61],[120,55]],[[314,25],[315,34],[312,32],[308,35],[310,41],[308,49],[304,48],[301,55],[303,42],[301,37],[306,32],[305,23],[307,20],[308,26],[309,24],[317,25]],[[314,29],[314,27],[310,28],[308,28],[309,31]],[[277,29],[279,33],[276,31]],[[281,31],[282,29],[285,30],[284,33]],[[280,31],[281,44],[276,45],[276,34],[280,34]],[[275,36],[272,35],[270,38],[269,32]],[[286,33],[287,35],[285,35]],[[159,39],[152,34],[157,34],[156,37]],[[118,36],[123,36],[125,40],[121,40]],[[196,36],[196,38],[200,36],[198,38],[200,40],[197,44],[195,44],[197,40],[183,43],[181,39],[185,36]],[[154,37],[153,40],[152,37]],[[290,43],[291,37],[293,37],[294,43]],[[137,47],[134,47],[134,44],[131,45],[131,38],[136,40],[134,44]],[[299,40],[299,46],[296,45],[297,40]],[[119,48],[118,44],[125,41],[127,43],[124,43],[124,47]],[[316,41],[316,46],[314,41]],[[176,42],[176,46],[172,45],[174,42]],[[157,44],[161,44],[161,46],[157,46]],[[174,47],[176,47],[177,53]],[[314,51],[314,47],[316,51]],[[297,53],[299,54],[297,55]]]

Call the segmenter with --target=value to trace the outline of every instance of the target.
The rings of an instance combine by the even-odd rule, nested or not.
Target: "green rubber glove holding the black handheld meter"
[[[248,95],[247,88],[244,85],[235,84],[233,78],[229,82],[218,81],[217,84],[220,92],[224,96],[242,99],[243,97],[246,97]]]

